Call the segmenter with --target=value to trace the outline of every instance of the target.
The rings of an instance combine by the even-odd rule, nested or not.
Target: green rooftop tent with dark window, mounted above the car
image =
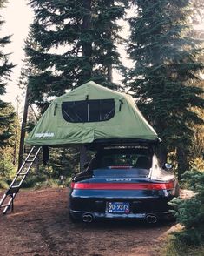
[[[53,100],[26,143],[66,146],[104,139],[155,142],[158,137],[133,98],[89,82]]]

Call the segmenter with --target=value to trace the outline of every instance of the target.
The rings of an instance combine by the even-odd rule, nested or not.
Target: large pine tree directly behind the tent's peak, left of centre
[[[30,77],[36,103],[59,96],[95,80],[113,86],[112,68],[120,69],[116,20],[125,13],[127,0],[32,0],[35,22],[31,34],[38,49],[26,46],[30,62],[38,69]]]

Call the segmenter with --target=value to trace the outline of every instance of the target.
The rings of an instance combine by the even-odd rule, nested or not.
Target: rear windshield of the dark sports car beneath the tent
[[[147,177],[152,156],[140,152],[102,152],[95,158],[94,175]]]

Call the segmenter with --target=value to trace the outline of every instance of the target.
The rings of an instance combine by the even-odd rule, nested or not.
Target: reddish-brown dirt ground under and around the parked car
[[[157,256],[174,226],[113,220],[73,224],[67,205],[65,188],[19,192],[14,212],[0,215],[0,255]]]

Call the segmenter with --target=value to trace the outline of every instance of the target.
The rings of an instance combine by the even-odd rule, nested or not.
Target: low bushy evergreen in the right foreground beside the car
[[[204,172],[188,171],[182,178],[187,188],[193,190],[194,196],[171,201],[174,216],[184,227],[181,232],[175,232],[174,236],[187,245],[201,246],[204,243]]]

